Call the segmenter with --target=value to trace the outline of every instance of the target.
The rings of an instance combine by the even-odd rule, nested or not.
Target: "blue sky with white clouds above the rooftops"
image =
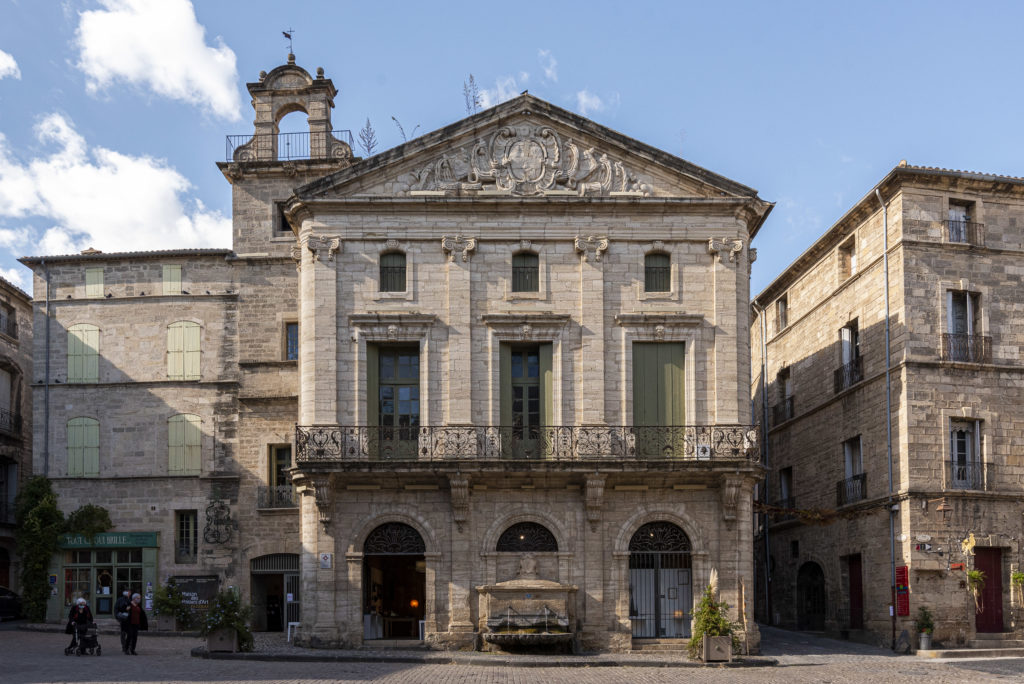
[[[1019,2],[0,0],[0,274],[25,254],[228,247],[245,83],[324,67],[401,142],[531,93],[777,206],[757,293],[899,160],[1024,174]],[[356,154],[360,154],[356,149]]]

